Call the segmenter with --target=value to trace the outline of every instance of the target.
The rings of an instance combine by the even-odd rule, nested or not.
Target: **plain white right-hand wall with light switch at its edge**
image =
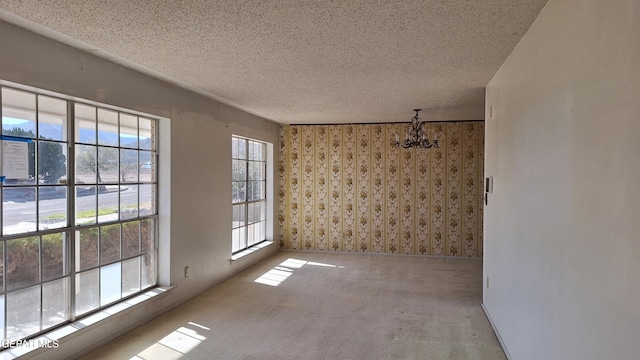
[[[550,0],[486,105],[484,306],[506,350],[638,359],[640,1]]]

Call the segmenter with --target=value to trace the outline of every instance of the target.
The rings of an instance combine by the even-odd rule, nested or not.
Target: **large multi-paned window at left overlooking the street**
[[[0,337],[154,286],[157,120],[13,87],[0,101]],[[5,176],[15,144],[26,144],[25,176]]]

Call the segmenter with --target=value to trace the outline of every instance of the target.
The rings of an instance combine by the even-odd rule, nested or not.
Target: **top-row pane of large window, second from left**
[[[38,137],[46,140],[67,139],[67,102],[38,95]]]

